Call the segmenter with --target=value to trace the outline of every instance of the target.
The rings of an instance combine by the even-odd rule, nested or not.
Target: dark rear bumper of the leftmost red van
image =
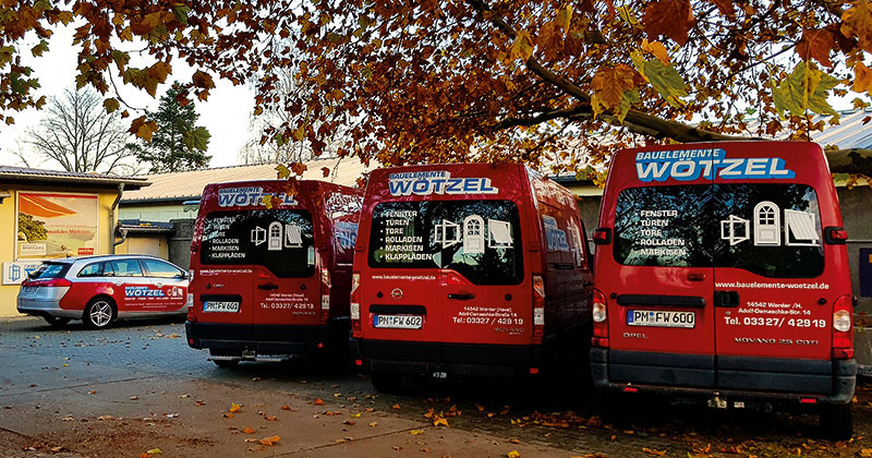
[[[343,345],[349,333],[342,318],[315,326],[186,322],[184,327],[191,348],[220,355],[306,354]]]

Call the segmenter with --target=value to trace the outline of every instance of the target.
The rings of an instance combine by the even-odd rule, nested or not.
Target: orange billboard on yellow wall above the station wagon
[[[19,192],[17,204],[16,258],[95,253],[97,195]]]

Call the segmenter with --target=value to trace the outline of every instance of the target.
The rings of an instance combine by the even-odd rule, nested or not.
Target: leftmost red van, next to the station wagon
[[[209,184],[191,244],[187,343],[219,366],[347,350],[363,192],[323,181]],[[271,208],[265,196],[272,195]]]

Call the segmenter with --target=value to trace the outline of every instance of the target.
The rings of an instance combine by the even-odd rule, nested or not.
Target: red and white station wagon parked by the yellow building
[[[118,254],[46,261],[24,280],[19,312],[52,326],[82,320],[104,328],[119,318],[186,312],[187,273],[158,257]]]

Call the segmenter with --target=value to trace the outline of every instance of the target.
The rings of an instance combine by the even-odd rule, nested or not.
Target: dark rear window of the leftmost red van
[[[312,215],[300,209],[215,212],[203,221],[203,265],[261,265],[280,278],[315,274]]]

